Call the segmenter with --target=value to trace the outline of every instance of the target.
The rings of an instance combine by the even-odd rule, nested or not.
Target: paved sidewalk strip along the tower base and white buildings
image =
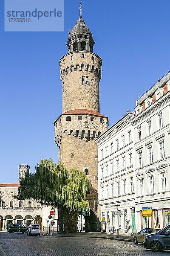
[[[118,240],[118,241],[126,241],[126,242],[133,242],[133,236],[130,235],[121,235],[117,237],[116,234],[109,234],[109,233],[99,233],[99,232],[85,232],[85,233],[54,233],[53,234],[42,234],[43,236],[61,236],[61,237],[89,237],[89,238],[99,238],[99,239],[111,239],[111,240]]]

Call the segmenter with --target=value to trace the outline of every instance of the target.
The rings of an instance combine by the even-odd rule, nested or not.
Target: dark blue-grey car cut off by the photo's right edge
[[[154,252],[170,250],[170,225],[159,230],[158,233],[148,234],[144,237],[144,248]]]

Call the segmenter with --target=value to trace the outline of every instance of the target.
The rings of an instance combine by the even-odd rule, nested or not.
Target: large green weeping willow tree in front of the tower
[[[52,159],[42,159],[36,172],[26,174],[21,180],[19,200],[32,198],[45,206],[59,207],[59,231],[77,230],[77,212],[90,212],[85,199],[90,183],[84,172],[76,168],[67,171],[63,164]]]

